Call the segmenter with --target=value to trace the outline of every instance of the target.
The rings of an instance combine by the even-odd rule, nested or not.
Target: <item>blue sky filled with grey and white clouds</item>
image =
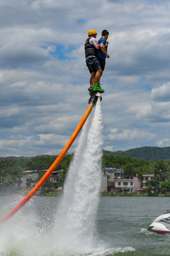
[[[88,107],[91,29],[109,31],[103,149],[170,146],[169,13],[169,0],[0,0],[0,156],[60,154]]]

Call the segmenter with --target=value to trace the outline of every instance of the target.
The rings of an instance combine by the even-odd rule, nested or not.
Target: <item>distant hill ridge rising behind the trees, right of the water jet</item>
[[[142,146],[136,149],[128,149],[125,151],[103,150],[103,154],[113,156],[131,156],[135,159],[148,161],[170,160],[170,146]]]

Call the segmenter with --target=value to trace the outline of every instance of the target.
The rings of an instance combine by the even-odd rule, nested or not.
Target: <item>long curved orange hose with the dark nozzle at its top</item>
[[[35,195],[35,193],[39,190],[39,188],[43,185],[43,183],[45,183],[45,181],[47,180],[47,178],[52,174],[52,172],[55,170],[55,168],[57,167],[58,164],[60,164],[60,161],[62,161],[64,155],[67,153],[67,151],[69,150],[70,146],[72,146],[74,140],[77,138],[77,135],[79,134],[79,132],[81,131],[81,128],[84,126],[84,123],[86,122],[86,119],[89,117],[89,114],[91,113],[92,108],[94,107],[94,105],[96,105],[96,102],[98,100],[98,97],[101,98],[101,93],[100,92],[94,92],[93,95],[91,95],[90,99],[89,99],[89,106],[86,109],[86,112],[84,112],[83,117],[81,118],[77,128],[75,129],[74,133],[72,134],[72,136],[69,138],[69,141],[67,142],[67,144],[64,146],[64,148],[62,149],[61,153],[59,154],[59,156],[57,156],[57,159],[55,159],[54,163],[50,166],[50,168],[48,169],[48,171],[44,174],[44,176],[42,176],[42,178],[40,179],[40,181],[38,181],[38,183],[33,187],[33,189],[28,193],[28,195],[23,198],[23,200],[18,203],[18,205],[13,208],[13,210],[11,210],[6,216],[4,216],[4,218],[2,218],[0,220],[0,223],[8,220],[9,218],[11,218],[15,213],[18,212],[18,210],[20,210],[29,200],[30,198],[32,198],[33,195]],[[101,100],[101,99],[100,99]]]

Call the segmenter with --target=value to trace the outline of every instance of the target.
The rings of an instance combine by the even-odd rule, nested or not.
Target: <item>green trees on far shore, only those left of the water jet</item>
[[[70,161],[72,160],[73,154],[66,154],[60,164],[57,166],[55,171],[63,170],[59,185],[62,186],[64,183],[64,178],[67,174],[67,169],[69,167]],[[49,169],[52,163],[55,161],[57,156],[33,156],[33,157],[3,157],[0,159],[0,191],[4,193],[17,192],[21,185],[21,177],[23,176],[23,171],[32,170],[45,170]],[[35,180],[37,183],[42,177],[42,172],[38,172],[38,179]],[[47,180],[45,185],[42,186],[40,191],[44,188],[52,187],[52,183]],[[26,191],[27,192],[27,191]]]

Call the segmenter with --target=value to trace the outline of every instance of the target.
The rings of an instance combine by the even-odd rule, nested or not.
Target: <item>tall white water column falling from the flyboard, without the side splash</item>
[[[102,145],[101,101],[98,100],[94,115],[82,130],[64,184],[64,194],[55,223],[61,247],[78,247],[83,250],[94,246],[101,186]]]

